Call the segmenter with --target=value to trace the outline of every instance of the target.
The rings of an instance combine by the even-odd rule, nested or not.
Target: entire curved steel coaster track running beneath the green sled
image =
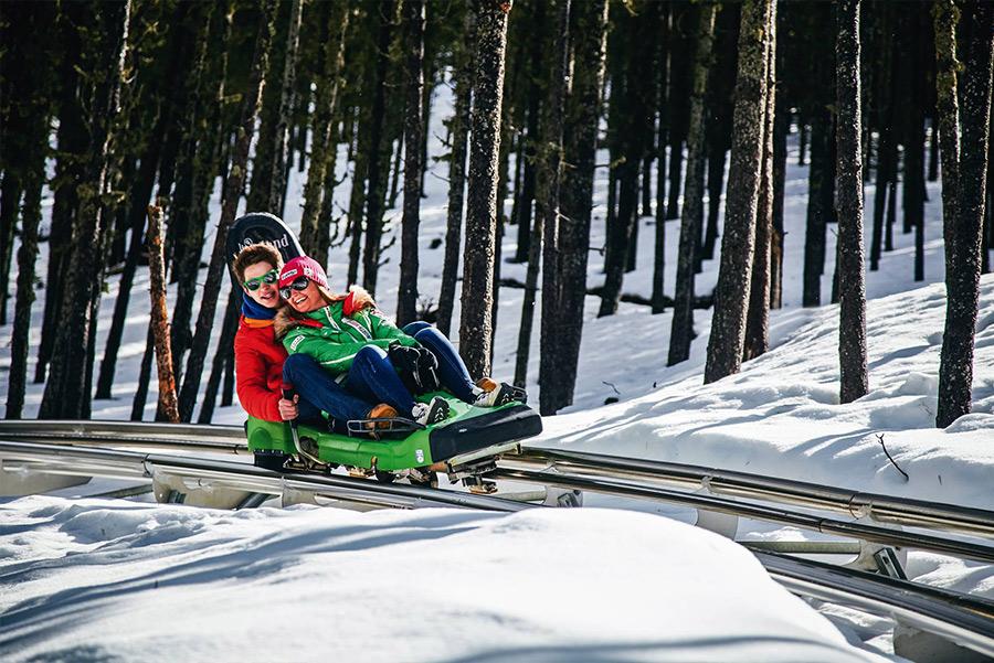
[[[0,440],[8,441],[0,441],[0,459],[8,469],[119,478],[152,478],[157,472],[165,472],[194,482],[268,495],[304,492],[335,501],[385,507],[448,506],[511,512],[535,506],[495,496],[380,484],[367,479],[278,473],[245,462],[190,456],[203,452],[246,455],[242,436],[241,428],[233,426],[2,423]],[[181,450],[183,456],[103,447]],[[527,449],[521,455],[503,458],[496,478],[680,503],[852,538],[994,563],[994,547],[987,545],[825,518],[769,504],[740,502],[723,495],[670,490],[658,484],[678,484],[685,489],[705,486],[726,495],[765,498],[768,502],[827,509],[848,513],[852,517],[867,517],[869,514],[878,520],[920,528],[986,537],[994,533],[994,514],[982,510],[825,486],[816,486],[818,491],[812,492],[805,490],[811,484],[757,474],[544,449]],[[770,553],[754,554],[774,579],[795,594],[890,616],[950,642],[994,656],[994,602],[805,559]]]

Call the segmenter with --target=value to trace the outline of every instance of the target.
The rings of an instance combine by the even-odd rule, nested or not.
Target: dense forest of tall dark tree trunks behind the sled
[[[160,243],[175,289],[160,398],[165,384],[181,420],[210,423],[234,389],[241,301],[236,290],[222,297],[226,229],[240,210],[284,216],[294,205],[308,255],[327,264],[347,247],[337,274],[373,295],[384,269],[399,270],[398,323],[435,323],[474,376],[491,367],[501,289],[524,289],[515,383],[537,354],[542,415],[572,403],[584,302],[616,313],[639,242],[655,264],[638,303],[673,312],[658,352],[685,361],[695,311],[713,308],[705,381],[721,379],[769,349],[770,310],[783,306],[789,139],[810,165],[803,306],[839,304],[843,403],[868,389],[866,271],[907,234],[908,270],[924,278],[926,183],[941,181],[935,425],[970,411],[994,244],[994,3],[4,0],[0,32],[9,419],[21,418],[29,381],[44,384],[41,418],[88,418],[110,396],[126,319],[149,310],[136,274]],[[451,107],[437,103],[442,88]],[[433,118],[442,158],[427,150]],[[448,186],[438,291],[419,289],[430,170]],[[293,171],[306,182],[300,200],[288,195]],[[595,177],[607,180],[596,217]],[[651,236],[638,233],[644,217]],[[603,246],[591,244],[593,223],[605,224]],[[837,256],[823,292],[829,233]],[[517,248],[501,255],[509,234]],[[679,247],[675,284],[663,278],[668,243]],[[399,264],[384,263],[394,244]],[[592,254],[604,259],[595,288]],[[720,260],[713,291],[695,288],[705,259]],[[501,278],[509,263],[527,265],[524,282]],[[110,282],[114,314],[99,319]],[[134,419],[160,372],[149,318]]]

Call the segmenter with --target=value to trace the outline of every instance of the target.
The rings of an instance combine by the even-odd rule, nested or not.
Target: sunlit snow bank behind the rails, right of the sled
[[[945,430],[934,428],[945,319],[944,286],[934,284],[868,302],[870,392],[855,403],[838,403],[838,308],[782,310],[772,349],[740,374],[702,385],[698,341],[690,361],[628,377],[663,386],[547,418],[540,443],[994,510],[994,275],[981,299],[973,414]],[[609,324],[592,333],[625,323]],[[630,329],[637,338],[644,328]]]

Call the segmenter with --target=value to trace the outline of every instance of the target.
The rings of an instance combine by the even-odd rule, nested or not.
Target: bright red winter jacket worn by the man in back
[[[283,420],[278,404],[285,361],[286,350],[273,334],[273,321],[242,316],[235,334],[235,376],[239,400],[253,417]]]

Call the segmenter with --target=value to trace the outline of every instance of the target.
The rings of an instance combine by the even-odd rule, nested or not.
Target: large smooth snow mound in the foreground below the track
[[[0,657],[871,661],[743,548],[667,518],[0,505]]]

